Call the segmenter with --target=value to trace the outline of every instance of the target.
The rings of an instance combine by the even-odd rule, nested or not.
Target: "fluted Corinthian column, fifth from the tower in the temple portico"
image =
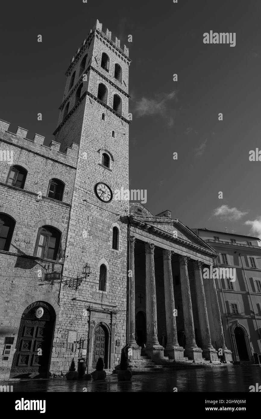
[[[202,262],[194,261],[194,275],[195,275],[195,286],[196,286],[196,303],[198,307],[199,315],[199,328],[202,340],[203,357],[211,362],[219,362],[217,357],[217,351],[212,347],[209,319],[207,315],[207,303],[204,292],[203,278],[202,278]]]

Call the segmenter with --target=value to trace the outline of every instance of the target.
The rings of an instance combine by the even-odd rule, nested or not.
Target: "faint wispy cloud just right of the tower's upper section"
[[[176,91],[171,93],[160,93],[154,98],[142,97],[135,104],[135,112],[138,118],[142,116],[159,115],[166,119],[169,127],[173,127],[175,119],[175,110],[169,108],[169,101],[177,101]]]

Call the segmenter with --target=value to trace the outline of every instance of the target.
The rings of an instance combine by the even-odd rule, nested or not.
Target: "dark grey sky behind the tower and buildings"
[[[52,139],[65,71],[97,18],[132,59],[130,188],[191,228],[261,236],[261,162],[249,161],[261,150],[261,2],[5,0],[0,118],[10,131]],[[235,47],[204,44],[211,30],[235,32]]]

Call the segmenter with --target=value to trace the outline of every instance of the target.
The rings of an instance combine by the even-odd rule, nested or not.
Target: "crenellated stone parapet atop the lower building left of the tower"
[[[79,145],[72,142],[65,152],[60,151],[61,144],[52,140],[49,145],[44,145],[45,137],[35,134],[33,140],[26,138],[28,129],[18,127],[16,133],[8,131],[10,122],[0,119],[0,141],[12,144],[23,149],[27,149],[33,153],[42,155],[43,157],[58,160],[73,167],[77,165]],[[3,148],[3,146],[1,147]]]

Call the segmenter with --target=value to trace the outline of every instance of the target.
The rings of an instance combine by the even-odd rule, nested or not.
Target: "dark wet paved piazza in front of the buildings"
[[[107,375],[105,381],[49,380],[9,381],[13,392],[249,392],[249,386],[261,384],[260,365],[235,365],[191,370],[176,370],[133,375],[130,382]],[[86,390],[85,390],[86,391]]]

